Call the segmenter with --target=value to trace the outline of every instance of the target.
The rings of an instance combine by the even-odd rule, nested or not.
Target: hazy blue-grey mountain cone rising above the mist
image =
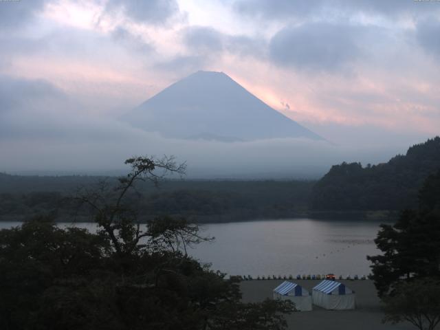
[[[164,137],[223,142],[322,137],[272,109],[223,72],[196,72],[124,115]]]

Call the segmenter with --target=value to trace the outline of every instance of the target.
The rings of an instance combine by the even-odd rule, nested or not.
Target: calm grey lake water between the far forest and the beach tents
[[[19,224],[0,222],[0,228]],[[208,224],[202,226],[203,234],[214,236],[215,241],[201,243],[188,253],[232,275],[362,276],[370,273],[366,255],[379,253],[373,242],[379,224],[314,219]],[[94,223],[75,225],[96,229]]]

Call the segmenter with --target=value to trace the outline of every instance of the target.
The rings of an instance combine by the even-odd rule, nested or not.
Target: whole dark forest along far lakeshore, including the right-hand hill
[[[200,222],[244,221],[289,217],[388,217],[417,206],[418,191],[440,169],[440,137],[417,144],[406,155],[385,164],[332,166],[319,181],[166,180],[155,188],[145,182],[133,197],[145,219],[182,215]],[[51,213],[87,220],[68,197],[80,186],[115,177],[18,176],[0,173],[0,219],[13,220]],[[380,211],[380,212],[379,212]]]

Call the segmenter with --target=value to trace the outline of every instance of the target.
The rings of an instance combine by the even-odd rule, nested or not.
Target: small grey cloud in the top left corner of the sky
[[[32,1],[0,1],[0,29],[17,28],[28,22],[38,12],[41,12],[45,0]]]

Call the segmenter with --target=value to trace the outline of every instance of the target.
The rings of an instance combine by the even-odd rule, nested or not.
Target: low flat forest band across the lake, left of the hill
[[[115,180],[0,175],[0,219],[43,213],[85,220],[87,212],[77,210],[69,197],[79,186],[92,186],[102,179]],[[200,222],[296,217],[309,208],[313,185],[314,181],[164,181],[159,188],[148,183],[140,186],[141,197],[133,197],[133,203],[144,219],[164,214]]]

